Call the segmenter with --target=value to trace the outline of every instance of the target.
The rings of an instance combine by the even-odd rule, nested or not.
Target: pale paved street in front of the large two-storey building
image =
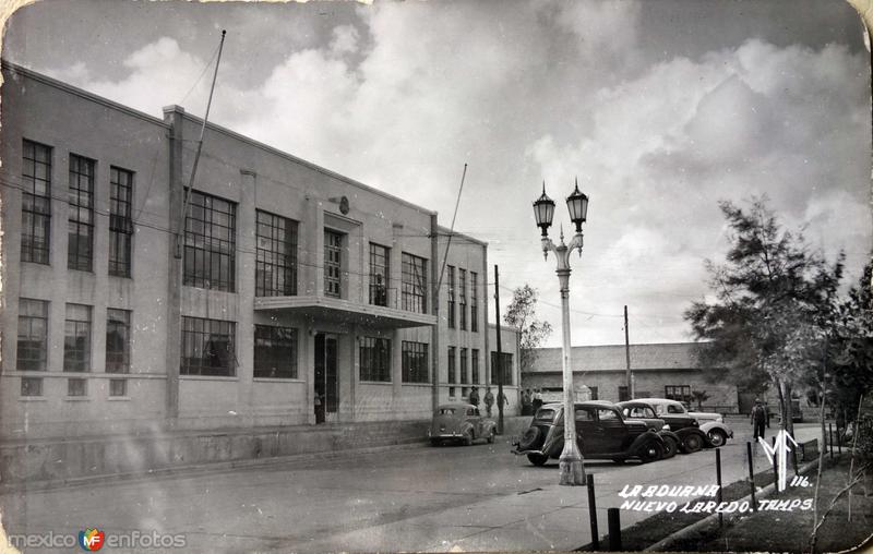
[[[723,481],[745,473],[745,425],[722,448]],[[799,438],[814,436],[812,424]],[[773,430],[772,430],[773,431]],[[186,535],[191,552],[569,550],[590,540],[585,487],[510,445],[414,446],[334,459],[184,472],[0,497],[7,531]],[[625,484],[715,483],[714,450],[641,466],[588,461],[600,531]],[[758,453],[758,469],[767,463]],[[622,511],[622,526],[649,514]],[[118,549],[112,550],[119,552]],[[39,549],[28,552],[43,552]]]

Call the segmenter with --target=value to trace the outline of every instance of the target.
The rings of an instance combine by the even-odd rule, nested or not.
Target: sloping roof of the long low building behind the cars
[[[631,345],[631,369],[645,370],[696,370],[699,368],[696,342],[672,342],[659,345]],[[570,364],[574,372],[624,371],[626,362],[624,345],[573,347]],[[562,371],[560,348],[538,348],[531,373]]]

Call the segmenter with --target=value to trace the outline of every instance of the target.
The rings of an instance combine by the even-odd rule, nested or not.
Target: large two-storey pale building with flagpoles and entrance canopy
[[[214,124],[191,183],[183,108],[3,77],[0,438],[426,419],[492,381],[487,244],[435,212]]]

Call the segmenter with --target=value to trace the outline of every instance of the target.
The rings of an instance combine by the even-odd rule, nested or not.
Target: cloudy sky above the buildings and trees
[[[625,304],[632,341],[690,338],[703,260],[726,249],[719,200],[767,194],[813,246],[845,249],[849,280],[869,255],[869,53],[841,0],[46,0],[8,23],[3,57],[202,115],[222,28],[211,120],[446,226],[468,164],[456,230],[489,242],[504,305],[539,289],[550,346],[558,279],[530,209],[543,179],[565,228],[575,178],[590,196],[575,345],[623,342]]]

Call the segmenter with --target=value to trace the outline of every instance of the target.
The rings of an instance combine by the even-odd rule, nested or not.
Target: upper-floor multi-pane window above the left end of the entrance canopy
[[[260,209],[256,219],[254,294],[294,297],[297,294],[297,221]]]

